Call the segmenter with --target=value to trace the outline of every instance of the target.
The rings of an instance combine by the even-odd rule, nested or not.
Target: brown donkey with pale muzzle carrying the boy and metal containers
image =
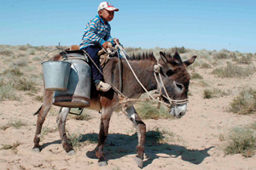
[[[55,56],[54,60],[61,59],[61,54]],[[165,92],[162,95],[165,103],[170,103],[166,96],[170,99],[182,100],[188,98],[189,89],[189,73],[186,71],[186,67],[194,63],[196,56],[191,57],[185,61],[182,61],[180,55],[176,52],[173,56],[160,52],[160,59],[157,60],[154,54],[143,54],[138,58],[129,59],[129,63],[136,73],[138,79],[142,82],[143,86],[148,90],[155,90]],[[154,77],[154,65],[160,64],[160,72],[156,73],[162,77],[162,83],[157,83],[158,80]],[[143,88],[135,79],[131,69],[128,67],[124,59],[121,59],[122,65],[122,94],[127,98],[137,99],[141,94],[144,93]],[[108,63],[103,68],[103,74],[105,81],[113,84],[114,87],[119,87],[119,59],[110,58]],[[159,78],[159,77],[158,77]],[[164,90],[164,87],[166,90]],[[167,94],[166,94],[167,93]],[[35,113],[38,114],[37,128],[35,137],[33,139],[34,147],[33,150],[40,152],[40,133],[42,126],[47,116],[51,105],[53,104],[54,92],[44,88],[44,103]],[[97,92],[96,88],[92,86],[91,97],[90,97],[89,109],[102,111],[101,124],[98,144],[96,145],[95,152],[96,157],[99,159],[99,165],[107,165],[107,160],[103,154],[104,143],[108,137],[108,127],[110,118],[113,111],[120,111],[122,105],[119,103],[118,94],[111,88],[108,92]],[[177,118],[182,117],[187,110],[187,104],[175,104],[172,105],[170,114]],[[68,143],[67,134],[65,131],[65,124],[67,115],[70,108],[63,107],[57,116],[57,125],[61,136],[61,144],[63,149],[66,150],[68,155],[75,154],[72,146]],[[133,103],[126,105],[125,115],[134,123],[137,128],[138,144],[137,144],[137,156],[136,161],[138,167],[143,167],[143,155],[144,155],[144,144],[145,144],[145,133],[146,125],[138,116]]]

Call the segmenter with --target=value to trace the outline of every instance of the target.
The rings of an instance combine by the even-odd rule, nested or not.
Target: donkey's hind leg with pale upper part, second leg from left
[[[61,136],[62,147],[64,150],[66,150],[68,155],[73,156],[75,154],[75,151],[73,150],[72,146],[70,144],[68,144],[67,133],[66,133],[66,129],[65,129],[67,115],[68,115],[69,111],[70,111],[70,108],[68,108],[68,107],[61,108],[61,111],[57,117],[56,122],[58,124],[59,133]]]

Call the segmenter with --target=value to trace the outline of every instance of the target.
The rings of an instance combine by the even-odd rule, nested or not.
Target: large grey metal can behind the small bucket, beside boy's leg
[[[82,59],[68,59],[72,63],[67,91],[55,91],[53,105],[62,107],[89,107],[91,68]]]

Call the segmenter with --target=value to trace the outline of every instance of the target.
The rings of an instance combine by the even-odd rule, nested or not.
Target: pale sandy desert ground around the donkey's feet
[[[200,59],[200,57],[199,57]],[[251,77],[221,79],[211,74],[212,69],[196,71],[211,88],[231,90],[231,94],[203,99],[203,88],[199,80],[191,80],[189,90],[188,111],[180,119],[144,120],[147,135],[160,135],[159,132],[172,134],[167,143],[157,144],[157,138],[146,142],[145,170],[153,169],[247,169],[256,170],[256,156],[246,158],[241,154],[225,155],[225,137],[233,127],[244,127],[256,122],[256,116],[240,116],[227,112],[234,97],[243,87],[255,87],[256,73]],[[42,94],[42,91],[39,94]],[[105,147],[108,158],[107,167],[99,167],[91,150],[96,147],[99,131],[100,114],[96,111],[85,111],[92,118],[79,121],[68,117],[67,132],[79,133],[82,139],[75,148],[76,155],[68,156],[62,149],[57,130],[47,133],[41,139],[41,153],[32,151],[33,137],[37,116],[32,114],[38,110],[41,102],[31,96],[20,94],[20,101],[0,102],[0,125],[21,120],[26,126],[0,129],[0,144],[20,145],[17,150],[0,150],[0,169],[140,169],[134,160],[136,155],[137,133],[132,123],[122,113],[114,113],[110,122],[109,135]],[[56,111],[46,117],[44,127],[56,128]],[[224,140],[220,139],[224,136]],[[16,151],[16,153],[15,153]]]

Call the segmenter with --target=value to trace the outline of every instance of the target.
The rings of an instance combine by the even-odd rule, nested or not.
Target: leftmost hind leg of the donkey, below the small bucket
[[[44,94],[44,104],[38,109],[38,111],[34,114],[38,114],[38,121],[37,121],[37,129],[34,137],[34,147],[33,150],[36,152],[40,152],[40,134],[41,130],[45,121],[45,117],[47,116],[49,109],[52,105],[52,92],[45,92]],[[46,97],[45,97],[46,96]]]

